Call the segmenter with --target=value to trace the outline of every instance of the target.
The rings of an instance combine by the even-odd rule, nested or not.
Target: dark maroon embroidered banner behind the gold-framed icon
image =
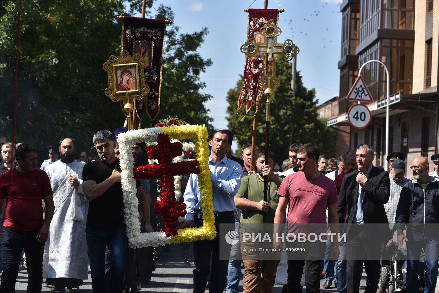
[[[122,25],[122,50],[137,53],[148,65],[144,68],[145,84],[150,91],[143,100],[136,100],[136,113],[142,119],[145,108],[151,121],[160,111],[162,85],[162,59],[165,45],[165,20],[125,16]]]

